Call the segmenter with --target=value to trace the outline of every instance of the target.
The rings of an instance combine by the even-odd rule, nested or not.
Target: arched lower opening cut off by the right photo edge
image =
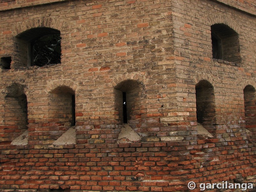
[[[255,88],[247,85],[244,88],[244,115],[245,128],[256,133],[256,104],[255,104]]]

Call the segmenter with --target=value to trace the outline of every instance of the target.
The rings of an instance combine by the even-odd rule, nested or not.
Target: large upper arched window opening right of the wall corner
[[[236,31],[225,24],[211,26],[212,58],[240,63],[239,38]]]

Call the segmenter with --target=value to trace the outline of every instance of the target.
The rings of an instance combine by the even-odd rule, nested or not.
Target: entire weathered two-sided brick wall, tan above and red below
[[[253,97],[245,87],[256,87],[255,15],[208,0],[11,3],[15,10],[0,12],[0,57],[12,57],[11,69],[0,69],[1,189],[186,191],[191,180],[255,179],[254,133],[245,129],[253,130],[246,114],[255,116],[255,106],[244,107]],[[215,23],[238,34],[239,65],[212,59]],[[15,37],[35,27],[60,31],[61,64],[22,66]],[[212,89],[196,97],[201,80]],[[27,111],[13,110],[28,118],[25,146],[10,145],[24,132],[7,110],[15,84],[28,102]],[[140,141],[117,143],[122,92]],[[71,125],[72,94],[77,144],[54,146]],[[204,99],[211,139],[197,132]]]

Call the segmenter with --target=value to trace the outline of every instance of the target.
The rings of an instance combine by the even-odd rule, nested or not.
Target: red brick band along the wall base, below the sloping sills
[[[255,176],[256,162],[251,155],[255,146],[250,139],[200,141],[204,144],[194,140],[2,149],[1,189],[184,191],[189,181],[245,182]]]

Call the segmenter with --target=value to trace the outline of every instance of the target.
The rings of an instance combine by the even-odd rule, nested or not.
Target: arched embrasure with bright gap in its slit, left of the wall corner
[[[115,108],[121,124],[136,123],[140,114],[140,96],[142,85],[135,80],[126,80],[116,85]]]

